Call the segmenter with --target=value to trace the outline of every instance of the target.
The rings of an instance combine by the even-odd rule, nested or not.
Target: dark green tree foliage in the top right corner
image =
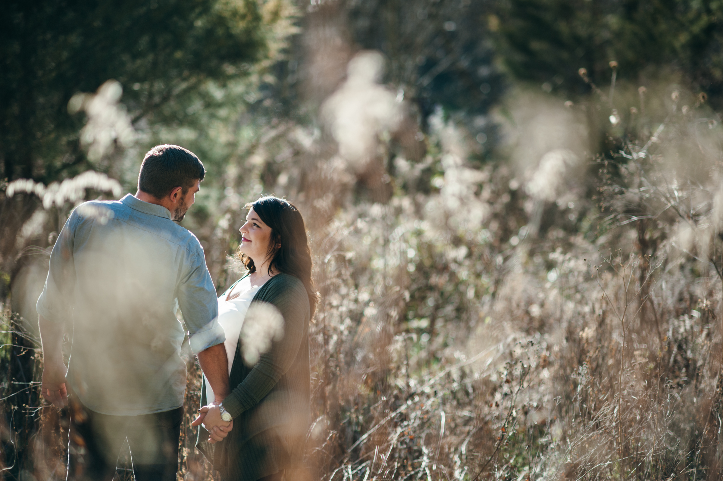
[[[715,105],[723,100],[722,21],[721,2],[687,0],[513,0],[499,2],[492,18],[500,59],[519,80],[584,94],[578,69],[601,82],[617,61],[621,79],[674,74]]]

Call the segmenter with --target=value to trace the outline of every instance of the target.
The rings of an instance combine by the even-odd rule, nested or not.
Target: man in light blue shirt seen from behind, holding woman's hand
[[[192,152],[158,145],[143,159],[134,196],[82,203],[56,240],[37,305],[41,392],[55,406],[69,404],[69,479],[111,480],[126,439],[137,481],[176,479],[186,388],[177,309],[215,401],[228,394],[203,249],[174,223],[204,176]],[[67,373],[64,333],[72,336]]]

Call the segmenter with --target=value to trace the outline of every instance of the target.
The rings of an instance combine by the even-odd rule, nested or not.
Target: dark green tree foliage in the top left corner
[[[78,148],[74,93],[116,79],[135,122],[182,122],[200,86],[248,72],[268,50],[255,1],[11,1],[0,22],[0,177],[9,180],[101,167]]]

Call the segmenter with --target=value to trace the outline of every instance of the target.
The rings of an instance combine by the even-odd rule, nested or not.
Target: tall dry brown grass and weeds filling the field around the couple
[[[197,229],[219,289],[239,275],[227,256],[247,200],[287,195],[309,224],[322,301],[306,477],[719,479],[719,120],[663,82],[596,91],[515,93],[497,163],[474,161],[454,116],[401,135],[356,103],[370,120],[353,156],[348,136],[288,120],[231,159]],[[22,439],[27,475],[61,478],[66,421],[41,406],[37,343],[4,312],[3,372],[35,356],[28,384],[4,378],[4,409],[27,420],[25,438],[2,427],[4,449]],[[187,360],[179,479],[214,479],[192,447]]]

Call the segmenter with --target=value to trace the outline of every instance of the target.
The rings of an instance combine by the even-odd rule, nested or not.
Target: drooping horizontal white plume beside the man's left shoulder
[[[12,197],[16,193],[24,192],[35,194],[43,201],[43,208],[49,209],[53,205],[61,206],[66,202],[77,203],[85,198],[85,190],[93,189],[100,192],[111,192],[114,197],[120,197],[123,187],[116,179],[96,171],[85,171],[65,179],[63,182],[53,182],[47,187],[32,179],[17,179],[7,184],[5,195]]]

